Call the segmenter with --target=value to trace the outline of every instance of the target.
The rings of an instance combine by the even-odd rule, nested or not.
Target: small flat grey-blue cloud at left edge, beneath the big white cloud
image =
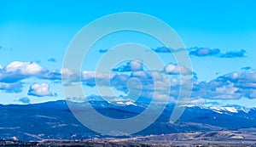
[[[20,93],[22,90],[21,82],[5,83],[0,82],[0,90],[4,90],[7,93]]]

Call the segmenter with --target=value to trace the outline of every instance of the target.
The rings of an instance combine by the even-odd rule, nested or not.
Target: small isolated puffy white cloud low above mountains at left
[[[53,96],[53,93],[49,92],[49,85],[47,83],[33,84],[27,93],[28,95],[44,97]]]

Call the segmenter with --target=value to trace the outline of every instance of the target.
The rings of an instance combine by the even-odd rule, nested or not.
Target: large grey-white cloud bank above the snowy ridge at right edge
[[[192,97],[205,99],[256,99],[256,72],[241,71],[218,76],[210,82],[195,82]]]

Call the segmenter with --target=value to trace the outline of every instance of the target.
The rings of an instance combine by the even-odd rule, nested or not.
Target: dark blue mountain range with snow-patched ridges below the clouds
[[[76,103],[92,105],[105,116],[123,119],[137,116],[147,109],[147,104],[131,101],[108,102],[90,100]],[[162,104],[154,104],[157,110]],[[121,138],[171,133],[195,133],[211,131],[255,131],[256,109],[238,105],[225,107],[179,105],[186,107],[175,123],[169,119],[175,105],[166,105],[160,117],[139,133]],[[59,100],[32,105],[0,105],[0,139],[44,140],[44,139],[106,139],[111,136],[96,133],[84,127],[72,114],[67,101]]]

